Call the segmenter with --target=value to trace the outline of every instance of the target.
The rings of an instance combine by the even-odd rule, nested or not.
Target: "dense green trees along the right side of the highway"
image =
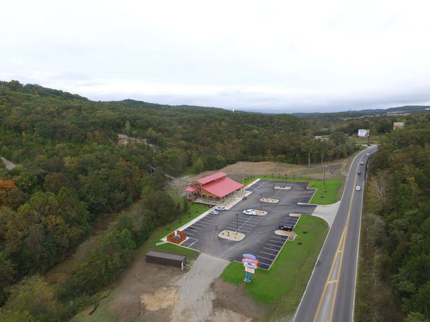
[[[358,321],[403,320],[384,305],[405,321],[430,321],[430,116],[409,121],[370,160]]]

